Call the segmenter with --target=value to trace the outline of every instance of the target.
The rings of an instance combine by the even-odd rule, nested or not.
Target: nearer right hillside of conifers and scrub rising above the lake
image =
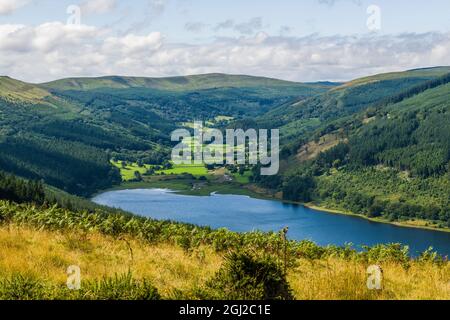
[[[420,226],[450,226],[450,76],[374,103],[285,146],[289,200]],[[391,103],[391,101],[395,101]],[[426,222],[425,222],[426,221]]]

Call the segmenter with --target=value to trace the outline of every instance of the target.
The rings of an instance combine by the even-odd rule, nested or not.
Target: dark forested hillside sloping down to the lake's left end
[[[132,127],[130,121],[37,85],[0,78],[0,168],[88,195],[120,182],[111,153],[162,157],[166,133],[146,124]]]

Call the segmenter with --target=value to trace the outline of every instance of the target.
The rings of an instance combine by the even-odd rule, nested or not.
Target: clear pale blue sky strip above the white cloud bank
[[[85,2],[35,0],[12,14],[0,16],[0,22],[34,25],[65,22],[67,7]],[[447,0],[155,0],[154,5],[148,0],[114,2],[114,9],[89,14],[82,17],[82,22],[99,27],[112,25],[117,32],[163,31],[168,39],[182,42],[238,35],[235,30],[213,29],[227,20],[246,23],[253,18],[261,18],[261,29],[270,35],[279,35],[286,27],[290,35],[296,36],[349,35],[368,32],[366,10],[375,4],[382,10],[382,33],[450,31],[450,1]],[[139,22],[145,23],[134,29]],[[189,23],[205,26],[195,33],[186,30]]]

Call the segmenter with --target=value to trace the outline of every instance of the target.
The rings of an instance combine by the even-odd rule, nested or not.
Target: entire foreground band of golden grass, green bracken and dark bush
[[[384,270],[380,291],[366,287],[374,264]],[[76,292],[65,286],[72,265],[83,281]],[[411,259],[399,244],[357,252],[274,232],[0,201],[0,299],[261,300],[283,283],[288,291],[277,292],[297,299],[450,299],[450,264],[430,250]]]

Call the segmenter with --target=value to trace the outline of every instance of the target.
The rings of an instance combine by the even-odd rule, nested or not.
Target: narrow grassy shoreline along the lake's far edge
[[[207,191],[207,192],[204,192],[204,190],[201,190],[201,189],[197,189],[197,190],[190,189],[189,190],[189,189],[186,189],[186,188],[184,188],[184,189],[183,188],[176,188],[176,185],[173,185],[174,181],[175,182],[180,182],[180,181],[177,181],[177,180],[168,180],[168,181],[153,181],[153,182],[140,182],[140,183],[139,182],[124,183],[124,184],[112,187],[110,189],[107,189],[107,190],[96,192],[95,194],[93,194],[90,197],[90,199],[93,199],[95,196],[97,196],[99,194],[102,194],[102,193],[105,193],[105,192],[118,191],[118,190],[134,190],[134,189],[165,188],[165,189],[170,189],[170,190],[173,190],[173,191],[175,191],[177,193],[180,193],[180,194],[183,194],[183,195],[189,195],[189,196],[209,196],[211,193],[215,192],[217,194],[245,195],[245,196],[252,197],[254,199],[273,200],[273,201],[279,201],[279,202],[283,202],[283,203],[287,203],[287,204],[301,205],[301,206],[304,206],[304,207],[312,209],[312,210],[323,211],[323,212],[327,212],[327,213],[330,213],[330,214],[339,214],[339,215],[345,215],[345,216],[352,216],[352,217],[364,219],[364,220],[367,220],[367,221],[370,221],[370,222],[390,224],[390,225],[393,225],[393,226],[396,226],[396,227],[414,228],[414,229],[422,229],[422,230],[439,231],[439,232],[450,233],[450,228],[437,228],[437,227],[433,227],[433,226],[414,225],[412,223],[407,223],[407,222],[404,222],[404,221],[389,221],[389,220],[383,219],[383,218],[370,218],[370,217],[367,217],[367,216],[362,215],[362,214],[357,214],[357,213],[345,211],[345,210],[342,210],[342,209],[332,209],[332,208],[320,206],[320,205],[318,205],[316,203],[313,203],[313,202],[302,203],[302,202],[296,202],[296,201],[287,201],[287,200],[281,199],[280,197],[277,197],[274,194],[268,193],[267,190],[264,190],[262,188],[259,188],[259,187],[255,188],[255,186],[250,187],[251,185],[240,186],[240,185],[236,185],[236,184],[233,184],[233,183],[227,184],[227,185],[217,185],[217,186],[213,185],[213,186],[208,186],[208,189],[210,189],[210,190]],[[170,182],[172,182],[172,185],[171,185]],[[167,184],[167,186],[164,186],[164,184]],[[180,185],[183,185],[183,184],[180,184]],[[218,187],[218,188],[214,188],[214,187]],[[213,190],[213,191],[211,191],[211,190]],[[233,192],[233,191],[236,191],[236,192]],[[425,221],[425,220],[419,220],[419,221],[423,221],[424,223],[427,223],[427,221]]]

